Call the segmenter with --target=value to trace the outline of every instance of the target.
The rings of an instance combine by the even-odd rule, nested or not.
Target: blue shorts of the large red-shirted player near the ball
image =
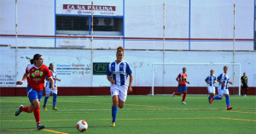
[[[40,102],[41,98],[43,97],[43,90],[38,92],[35,89],[33,89],[32,87],[27,86],[26,95],[29,98],[29,101],[31,103],[34,99],[38,99],[38,101]]]

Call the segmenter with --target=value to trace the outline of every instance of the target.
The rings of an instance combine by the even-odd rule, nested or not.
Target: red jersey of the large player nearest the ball
[[[47,77],[51,77],[51,73],[46,65],[42,65],[39,68],[35,64],[30,64],[26,67],[27,84],[37,91],[41,91],[44,88],[44,80]]]

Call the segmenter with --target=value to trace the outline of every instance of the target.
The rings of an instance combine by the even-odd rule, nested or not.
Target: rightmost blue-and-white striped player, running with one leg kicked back
[[[230,109],[232,109],[232,107],[230,106],[230,92],[229,92],[228,84],[230,83],[232,85],[233,83],[230,81],[230,76],[228,75],[228,67],[227,66],[224,66],[224,73],[218,75],[217,79],[218,79],[217,81],[219,82],[218,96],[212,98],[211,103],[214,99],[216,99],[216,100],[222,99],[222,97],[224,95],[226,98],[227,110],[230,110]]]

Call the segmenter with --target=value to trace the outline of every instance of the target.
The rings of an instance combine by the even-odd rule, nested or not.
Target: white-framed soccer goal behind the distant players
[[[240,95],[241,64],[230,63],[153,63],[152,89],[149,94],[170,94],[173,91],[177,91],[176,78],[177,75],[182,72],[183,67],[187,69],[187,80],[190,82],[190,84],[187,85],[188,92],[192,94],[207,94],[207,83],[205,82],[205,79],[210,75],[210,70],[214,70],[214,75],[218,77],[218,75],[223,73],[224,66],[228,66],[230,81],[233,82],[233,85],[229,84],[230,89],[232,89],[230,94]],[[215,86],[217,89],[217,81]],[[170,90],[171,88],[172,90]],[[189,90],[189,88],[193,90]]]

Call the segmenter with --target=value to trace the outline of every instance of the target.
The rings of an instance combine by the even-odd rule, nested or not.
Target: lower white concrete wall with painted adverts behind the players
[[[61,82],[60,87],[108,87],[109,82],[106,75],[92,75],[91,62],[110,63],[115,58],[116,50],[94,50],[91,58],[91,50],[67,49],[67,48],[17,48],[1,47],[1,76],[2,79],[12,78],[11,82],[20,81],[25,73],[29,59],[33,54],[44,55],[44,64],[55,64],[55,70]],[[166,63],[232,63],[233,53],[230,51],[166,51]],[[241,73],[247,72],[250,87],[256,87],[256,53],[236,52],[235,62],[241,64]],[[92,61],[91,61],[92,59]],[[125,50],[125,61],[131,64],[134,75],[134,87],[152,86],[152,64],[163,62],[162,51]],[[166,65],[163,74],[163,65],[154,67],[154,82],[158,87],[176,87],[175,78],[182,71],[183,66],[188,70],[188,81],[190,87],[206,87],[204,79],[209,75],[209,70],[215,70],[215,75],[223,72],[224,65]],[[239,66],[229,66],[230,77],[235,76],[236,87],[239,85]],[[67,69],[68,68],[68,69]],[[5,75],[8,75],[7,77]],[[163,83],[163,81],[165,83]],[[7,81],[1,81],[7,82]],[[13,84],[1,84],[1,87],[15,87]],[[26,87],[26,83],[23,86]]]

